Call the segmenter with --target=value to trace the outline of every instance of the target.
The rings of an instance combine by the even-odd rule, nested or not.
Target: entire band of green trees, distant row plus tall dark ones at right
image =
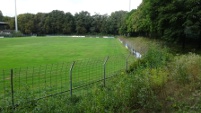
[[[3,20],[14,29],[14,18]],[[24,34],[140,35],[181,43],[183,48],[193,41],[201,48],[201,0],[142,0],[137,9],[111,15],[87,11],[72,15],[59,10],[27,13],[18,15],[18,23]]]

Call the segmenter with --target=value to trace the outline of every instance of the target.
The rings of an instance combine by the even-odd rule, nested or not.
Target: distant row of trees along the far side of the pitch
[[[126,16],[126,11],[116,11],[111,15],[90,15],[81,11],[72,15],[70,12],[53,10],[50,13],[20,14],[18,15],[18,28],[23,34],[119,34],[120,23]],[[5,22],[14,30],[14,17],[5,16]]]

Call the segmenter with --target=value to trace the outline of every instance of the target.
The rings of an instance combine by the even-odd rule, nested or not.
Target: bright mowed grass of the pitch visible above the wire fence
[[[117,39],[34,37],[0,39],[0,69],[126,54]]]

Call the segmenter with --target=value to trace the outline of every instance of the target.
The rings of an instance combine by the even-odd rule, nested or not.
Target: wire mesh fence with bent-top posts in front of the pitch
[[[134,60],[131,55],[118,55],[1,70],[0,110],[67,92],[68,96],[72,96],[75,90],[97,82],[105,86],[106,79],[126,70]]]

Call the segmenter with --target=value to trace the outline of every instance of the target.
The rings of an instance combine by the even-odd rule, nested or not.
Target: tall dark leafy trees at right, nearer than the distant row
[[[201,0],[143,0],[129,12],[125,26],[132,35],[201,48]]]

